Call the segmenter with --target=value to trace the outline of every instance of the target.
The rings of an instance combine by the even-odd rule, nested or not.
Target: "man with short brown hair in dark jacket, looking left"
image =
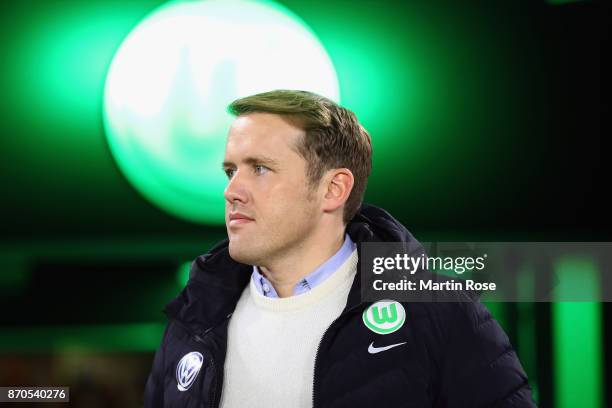
[[[303,91],[229,109],[229,240],[194,261],[167,305],[145,406],[534,406],[480,303],[361,300],[359,244],[414,238],[361,205],[372,149],[351,111]],[[381,333],[374,312],[403,318]]]

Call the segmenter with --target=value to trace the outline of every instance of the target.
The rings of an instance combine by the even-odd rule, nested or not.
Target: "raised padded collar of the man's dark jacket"
[[[357,244],[359,255],[359,244],[362,242],[406,242],[420,245],[387,211],[365,203],[349,222],[346,231]],[[361,256],[343,313],[362,303],[360,270]],[[224,240],[195,259],[187,285],[166,305],[164,311],[168,317],[180,320],[196,333],[210,329],[234,311],[251,272],[252,266],[236,262],[229,256],[228,240]]]

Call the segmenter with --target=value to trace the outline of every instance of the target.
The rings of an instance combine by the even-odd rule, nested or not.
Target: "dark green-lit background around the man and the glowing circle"
[[[418,239],[611,240],[606,2],[280,3],[317,34],[342,103],[372,134],[366,201]],[[185,263],[224,237],[145,200],[104,136],[113,53],[160,4],[0,5],[0,385],[55,382],[75,406],[138,405],[163,305]],[[71,28],[90,39],[62,45]],[[57,57],[70,47],[74,58]],[[552,308],[491,306],[514,345],[521,316],[535,319],[518,351],[542,407],[566,406]],[[611,310],[599,310],[605,345]],[[609,384],[600,351],[594,378]]]

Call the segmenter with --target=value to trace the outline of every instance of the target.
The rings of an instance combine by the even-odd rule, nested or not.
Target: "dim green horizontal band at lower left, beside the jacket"
[[[165,323],[3,328],[0,351],[154,351],[164,328]]]

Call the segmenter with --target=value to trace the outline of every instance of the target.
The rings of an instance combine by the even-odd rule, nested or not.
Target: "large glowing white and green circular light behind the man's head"
[[[297,16],[270,1],[170,3],[128,35],[111,63],[104,89],[111,152],[155,205],[223,223],[226,107],[272,89],[339,99],[329,56]]]

